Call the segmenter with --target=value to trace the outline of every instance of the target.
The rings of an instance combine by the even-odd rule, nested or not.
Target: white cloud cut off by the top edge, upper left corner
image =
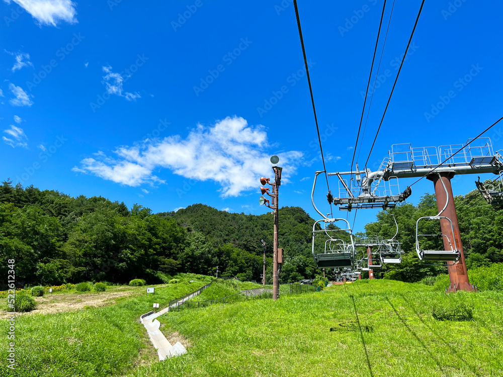
[[[11,0],[4,0],[7,4]],[[75,18],[75,3],[71,0],[12,0],[23,7],[41,25],[56,26],[58,21],[66,21],[69,24],[78,22]]]

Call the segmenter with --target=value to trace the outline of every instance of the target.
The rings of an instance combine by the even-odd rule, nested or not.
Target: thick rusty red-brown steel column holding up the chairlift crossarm
[[[448,217],[452,221],[452,229],[454,229],[454,234],[452,234],[451,224],[446,219],[440,219],[440,228],[442,234],[447,235],[449,239],[454,239],[456,241],[456,247],[460,252],[459,259],[447,266],[449,271],[449,280],[451,284],[447,292],[457,292],[457,291],[474,291],[475,289],[471,286],[468,280],[468,273],[466,271],[465,256],[463,253],[463,246],[461,245],[461,232],[459,231],[458,215],[456,214],[456,207],[454,206],[454,196],[452,195],[451,178],[454,176],[454,171],[442,171],[440,173],[435,172],[427,176],[428,179],[433,181],[435,185],[435,196],[437,198],[437,207],[440,211],[444,208],[445,202],[447,200],[444,187],[442,186],[442,181],[447,189],[447,195],[449,195],[449,202],[447,208],[445,209],[443,216]],[[442,179],[442,181],[441,181]],[[451,245],[449,240],[445,237],[444,239],[444,250],[450,251]],[[454,243],[452,243],[454,245]]]

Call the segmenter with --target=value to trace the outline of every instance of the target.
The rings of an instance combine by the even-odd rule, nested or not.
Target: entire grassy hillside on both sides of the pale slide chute
[[[2,373],[27,377],[503,375],[501,291],[446,295],[435,287],[389,280],[361,280],[306,295],[284,294],[277,302],[251,300],[167,313],[158,318],[165,325],[164,334],[178,331],[191,347],[182,357],[154,362],[156,355],[149,350],[138,316],[153,302],[163,307],[210,279],[159,286],[155,297],[125,298],[106,308],[22,316],[16,322],[16,373],[4,373],[5,368]],[[208,289],[206,297],[196,300],[221,297],[230,292],[227,289],[215,286],[213,290],[219,292]],[[449,317],[452,310],[465,315],[458,319],[469,320],[439,321],[432,316],[435,312]],[[7,334],[5,323],[0,331]],[[3,360],[5,350],[2,347],[0,352]],[[145,364],[147,356],[150,363]]]

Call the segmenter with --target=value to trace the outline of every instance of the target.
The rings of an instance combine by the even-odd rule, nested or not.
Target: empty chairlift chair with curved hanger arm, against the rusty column
[[[452,221],[446,216],[441,216],[442,213],[445,211],[447,208],[447,204],[449,203],[449,193],[447,192],[447,189],[445,187],[444,181],[442,180],[442,177],[439,174],[440,182],[442,183],[442,186],[444,187],[444,191],[446,194],[446,202],[444,208],[436,215],[436,216],[423,216],[417,219],[415,223],[415,251],[417,252],[417,256],[419,257],[420,260],[425,260],[425,261],[445,261],[446,263],[449,261],[455,262],[459,259],[461,253],[457,248],[456,245],[456,239],[454,238],[454,227],[452,226]],[[427,221],[440,221],[440,219],[445,219],[449,221],[449,224],[451,225],[451,234],[453,235],[453,242],[451,242],[451,239],[449,238],[448,235],[446,234],[419,234],[419,223],[422,220],[427,220]],[[420,247],[419,245],[419,238],[420,237],[436,237],[436,236],[441,236],[442,238],[445,237],[447,242],[449,243],[449,247],[451,250],[424,250]],[[454,245],[453,245],[454,243]]]

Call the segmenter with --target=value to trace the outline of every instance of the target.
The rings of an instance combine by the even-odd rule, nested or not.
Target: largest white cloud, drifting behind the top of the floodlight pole
[[[114,182],[138,186],[164,182],[153,175],[159,168],[170,169],[186,178],[212,180],[221,185],[221,196],[238,196],[256,189],[260,176],[270,172],[267,134],[262,126],[250,127],[246,120],[227,117],[213,127],[198,125],[187,138],[170,136],[144,140],[132,147],[122,146],[116,158],[86,158],[74,171],[86,171]],[[279,154],[284,168],[282,180],[296,173],[302,152]]]

